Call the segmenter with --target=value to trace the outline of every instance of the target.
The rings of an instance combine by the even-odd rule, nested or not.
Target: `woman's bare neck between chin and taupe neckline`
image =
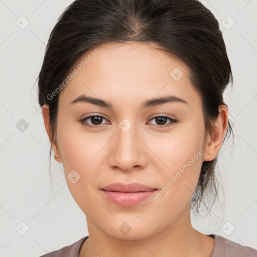
[[[87,217],[89,238],[82,246],[79,257],[149,257],[151,255],[210,257],[214,248],[214,239],[192,227],[190,208],[188,211],[183,213],[175,224],[144,239],[137,239],[137,236],[134,237],[135,239],[113,237],[100,230]]]

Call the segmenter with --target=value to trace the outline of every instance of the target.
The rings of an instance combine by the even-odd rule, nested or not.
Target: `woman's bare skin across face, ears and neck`
[[[57,137],[52,147],[59,155],[55,160],[63,163],[69,190],[86,215],[89,239],[80,257],[207,257],[213,252],[214,239],[191,224],[190,201],[202,162],[215,159],[222,146],[228,109],[219,106],[212,136],[205,142],[202,102],[188,67],[157,47],[149,42],[101,45],[99,53],[59,93]],[[74,67],[92,52],[85,53]],[[175,67],[184,73],[178,81],[170,76]],[[113,109],[86,102],[70,104],[81,94],[109,101]],[[141,108],[145,100],[170,94],[188,104]],[[42,114],[50,139],[48,105]],[[102,116],[101,126],[88,128],[78,121],[89,115]],[[158,123],[153,118],[160,116],[178,122]],[[127,132],[118,126],[124,118],[132,124]],[[87,122],[97,124],[90,118]],[[138,182],[161,190],[197,152],[201,157],[155,203],[147,199],[135,206],[119,206],[100,191],[115,182]],[[75,184],[67,178],[72,170],[80,175]],[[127,234],[119,230],[123,222],[131,227]]]

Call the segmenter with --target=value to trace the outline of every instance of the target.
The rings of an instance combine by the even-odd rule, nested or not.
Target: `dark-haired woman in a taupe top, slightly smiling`
[[[190,220],[216,197],[229,80],[218,22],[198,1],[73,2],[50,35],[39,103],[89,236],[49,255],[257,256]]]

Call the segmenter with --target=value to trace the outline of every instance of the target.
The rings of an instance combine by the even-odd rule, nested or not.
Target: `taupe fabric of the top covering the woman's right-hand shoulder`
[[[220,235],[213,235],[215,239],[214,249],[211,257],[257,257],[257,250],[231,241]]]

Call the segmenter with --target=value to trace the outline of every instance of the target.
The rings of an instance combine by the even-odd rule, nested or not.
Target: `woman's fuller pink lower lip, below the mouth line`
[[[157,189],[145,192],[114,192],[101,190],[104,195],[112,202],[121,206],[133,206],[137,205],[144,200],[148,199]]]

